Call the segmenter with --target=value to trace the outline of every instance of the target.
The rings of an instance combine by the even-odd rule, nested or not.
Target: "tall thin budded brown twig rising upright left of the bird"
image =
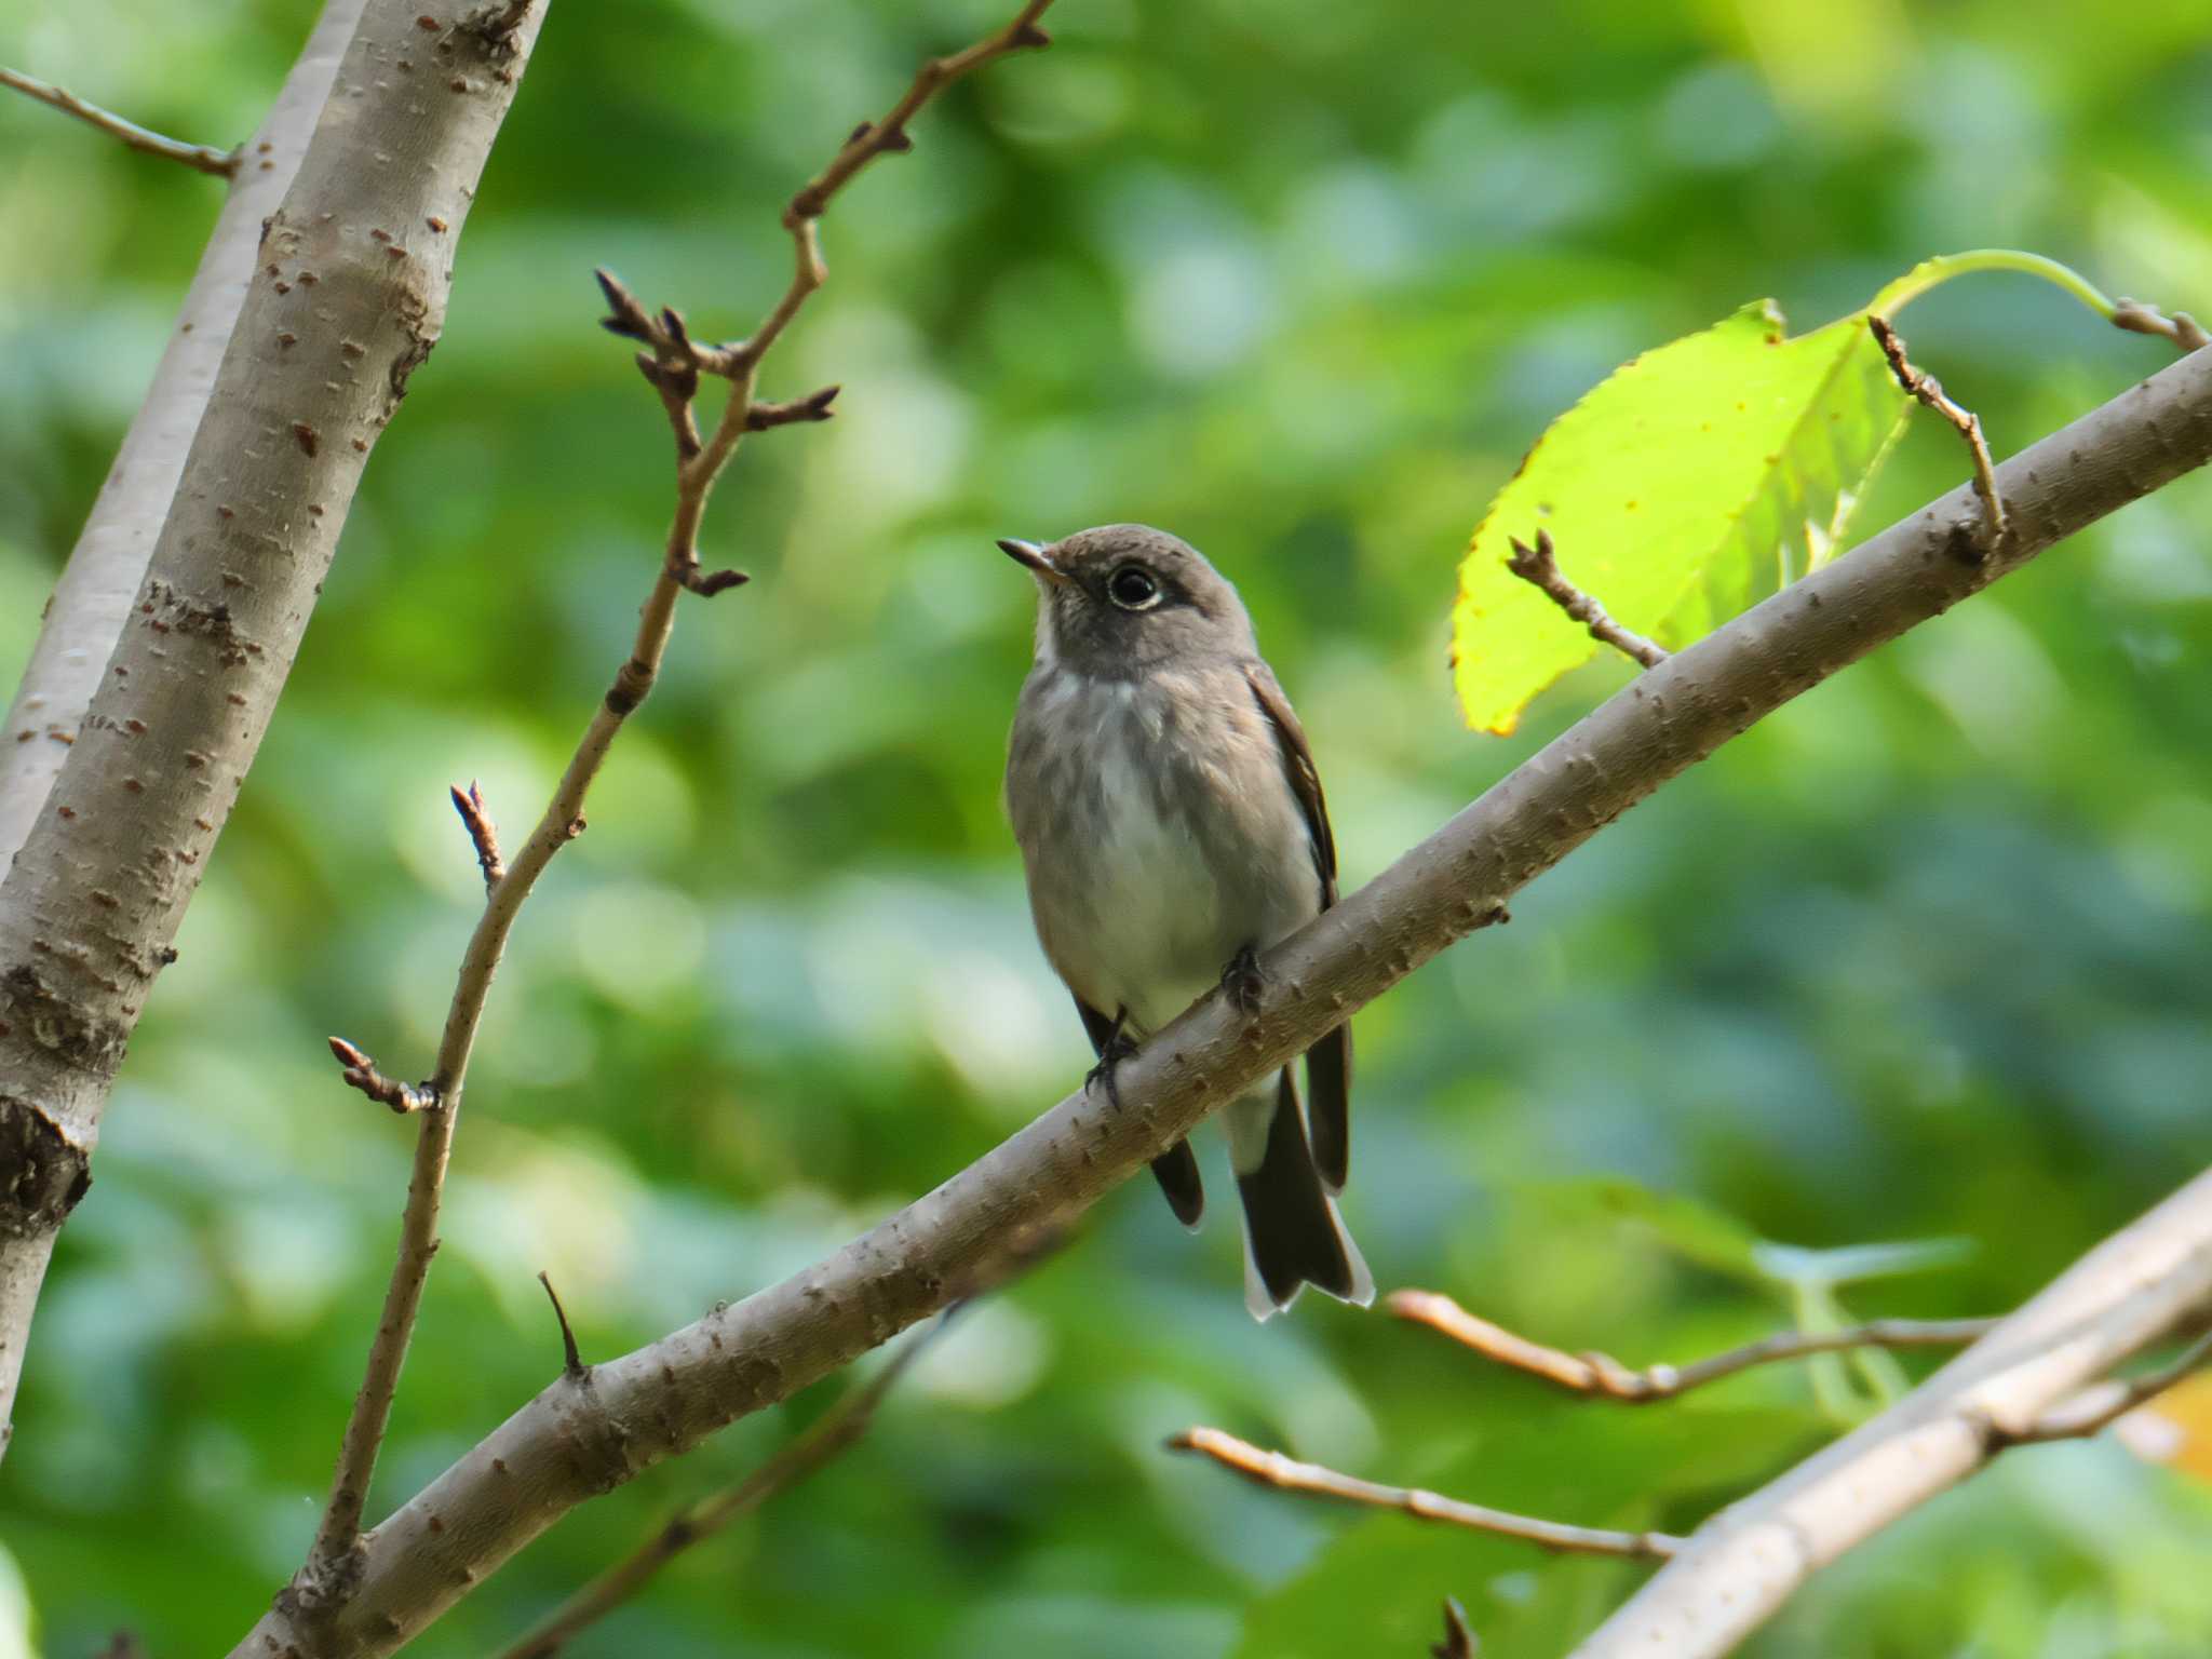
[[[1035,24],[1046,4],[1051,0],[1029,0],[1015,20],[995,35],[953,58],[938,58],[925,64],[914,86],[907,88],[907,95],[894,106],[891,117],[887,117],[900,128],[900,137],[902,124],[951,80],[1009,51],[1046,44],[1044,31]],[[524,7],[511,9],[515,15],[524,11]],[[805,234],[801,237],[803,248],[814,243],[812,221],[830,204],[830,197],[860,166],[889,148],[902,148],[902,144],[891,144],[889,139],[867,142],[860,135],[845,139],[830,168],[794,197],[792,208],[785,210],[785,228],[792,228],[792,215],[799,212],[801,204],[810,204],[801,219],[805,226]],[[484,911],[469,936],[460,975],[453,984],[453,1000],[445,1018],[445,1037],[438,1044],[438,1068],[422,1084],[422,1091],[438,1104],[438,1110],[420,1113],[422,1133],[416,1139],[407,1210],[400,1217],[400,1250],[392,1263],[383,1318],[369,1345],[361,1394],[354,1396],[354,1411],[345,1425],[330,1504],[323,1511],[307,1562],[288,1590],[290,1606],[305,1624],[327,1619],[352,1593],[361,1571],[361,1515],[367,1504],[369,1478],[376,1471],[376,1451],[392,1418],[392,1398],[398,1389],[400,1365],[407,1358],[407,1338],[422,1305],[422,1283],[438,1248],[438,1208],[447,1159],[453,1148],[453,1126],[460,1117],[462,1082],[467,1079],[469,1055],[476,1048],[476,1033],[484,1018],[484,1002],[491,995],[491,978],[507,949],[507,936],[513,931],[515,916],[553,860],[553,854],[584,832],[584,796],[593,779],[599,776],[599,768],[606,763],[622,723],[646,701],[653,681],[659,677],[661,659],[668,653],[668,637],[675,630],[679,595],[686,591],[714,595],[745,580],[739,571],[708,573],[701,568],[699,522],[706,515],[714,480],[721,478],[721,471],[730,465],[730,456],[737,453],[739,442],[750,429],[752,411],[757,407],[776,411],[787,407],[754,405],[754,378],[763,354],[799,312],[805,296],[821,288],[821,279],[823,272],[816,252],[814,279],[792,283],[770,314],[772,327],[763,325],[743,347],[701,347],[690,338],[679,312],[664,307],[657,316],[648,314],[622,283],[599,272],[599,288],[611,310],[604,327],[653,347],[650,354],[639,354],[639,369],[661,394],[677,438],[677,500],[668,526],[666,557],[639,613],[637,639],[630,646],[628,659],[615,670],[615,681],[593,710],[591,726],[568,759],[568,770],[553,790],[553,799],[538,818],[538,827],[531,830],[529,841],[515,854],[507,874],[489,883]],[[690,400],[699,389],[699,374],[703,372],[721,374],[730,380],[730,403],[721,411],[714,436],[701,445]],[[823,420],[830,414],[834,396],[834,387],[816,392],[790,405],[801,414],[781,414],[781,418],[772,418],[765,425]],[[467,818],[469,814],[462,812],[462,816]],[[482,858],[482,849],[478,856]]]

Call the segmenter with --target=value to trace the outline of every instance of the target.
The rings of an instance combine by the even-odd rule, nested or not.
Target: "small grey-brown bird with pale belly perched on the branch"
[[[1225,989],[1254,1006],[1259,953],[1336,902],[1336,838],[1305,730],[1237,588],[1188,542],[1104,524],[1000,540],[1037,584],[1035,659],[1006,741],[1006,816],[1053,971],[1119,1106],[1115,1066]],[[1336,1210],[1349,1168],[1352,1029],[1223,1108],[1243,1201],[1245,1307],[1305,1285],[1369,1305]],[[1190,1141],[1152,1161],[1186,1228],[1206,1210]]]

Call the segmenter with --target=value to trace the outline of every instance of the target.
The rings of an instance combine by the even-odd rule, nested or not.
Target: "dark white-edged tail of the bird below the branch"
[[[1321,1186],[1290,1068],[1283,1068],[1274,1091],[1234,1102],[1225,1117],[1230,1166],[1245,1212],[1245,1307],[1252,1318],[1283,1312],[1305,1285],[1367,1307],[1376,1298],[1376,1281]]]

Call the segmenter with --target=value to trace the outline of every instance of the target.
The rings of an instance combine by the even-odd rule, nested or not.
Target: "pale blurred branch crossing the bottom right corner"
[[[2006,480],[2011,489],[2011,480]],[[1717,1659],[1818,1568],[2031,1440],[2095,1433],[2137,1387],[2093,1385],[2212,1312],[2212,1170],[2112,1234],[1909,1396],[1697,1528],[1573,1659]],[[2077,1396],[2090,1389],[2095,1407]],[[2148,1398],[2148,1391],[2141,1396]]]

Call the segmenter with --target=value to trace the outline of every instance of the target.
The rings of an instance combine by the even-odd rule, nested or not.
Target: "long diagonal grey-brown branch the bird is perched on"
[[[1161,1029],[1124,1062],[1119,1108],[1077,1091],[825,1261],[595,1365],[588,1398],[555,1383],[522,1405],[367,1540],[341,1650],[392,1652],[575,1504],[938,1312],[980,1261],[1073,1221],[1668,779],[2208,458],[2212,354],[2197,354],[2000,467],[2013,535],[1997,557],[1951,557],[1973,507],[1960,487],[1674,653],[1270,951],[1256,1013],[1206,998]],[[239,1659],[265,1655],[263,1637],[281,1650],[281,1615]]]

